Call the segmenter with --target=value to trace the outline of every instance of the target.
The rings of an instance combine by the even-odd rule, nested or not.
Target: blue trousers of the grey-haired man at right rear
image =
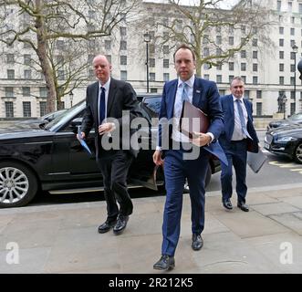
[[[233,193],[233,166],[236,175],[236,193],[238,201],[245,203],[245,196],[247,192],[247,186],[245,183],[246,178],[246,152],[247,140],[243,141],[231,141],[227,149],[224,149],[228,165],[225,166],[222,163],[221,172],[221,184],[223,200],[232,197]]]

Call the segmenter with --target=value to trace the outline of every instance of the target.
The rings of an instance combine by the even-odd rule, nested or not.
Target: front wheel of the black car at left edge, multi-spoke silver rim
[[[36,176],[18,162],[0,162],[0,207],[21,207],[37,191]]]

